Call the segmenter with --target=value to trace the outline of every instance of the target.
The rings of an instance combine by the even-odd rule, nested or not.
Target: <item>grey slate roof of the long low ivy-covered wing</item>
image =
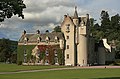
[[[48,37],[50,40],[50,42],[53,42],[55,40],[55,36],[58,37],[58,39],[63,39],[64,40],[64,36],[63,33],[61,32],[52,32],[52,33],[44,33],[44,34],[25,34],[22,35],[21,38],[19,39],[19,43],[23,43],[25,37],[28,39],[28,43],[34,43],[37,42],[38,37],[41,39],[41,42],[45,42],[46,41],[46,37]]]

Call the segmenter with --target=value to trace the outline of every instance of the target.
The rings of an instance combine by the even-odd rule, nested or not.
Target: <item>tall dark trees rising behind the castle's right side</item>
[[[107,38],[108,41],[115,41],[117,48],[120,50],[120,16],[116,14],[109,17],[107,11],[101,11],[101,25],[95,23],[94,19],[90,19],[91,33],[95,40]]]

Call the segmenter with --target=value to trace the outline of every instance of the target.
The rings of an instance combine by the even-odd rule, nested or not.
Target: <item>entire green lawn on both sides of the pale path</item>
[[[65,66],[18,66],[15,64],[0,64],[0,73],[60,67]],[[0,79],[120,79],[120,69],[102,68],[24,72],[16,74],[1,74]]]

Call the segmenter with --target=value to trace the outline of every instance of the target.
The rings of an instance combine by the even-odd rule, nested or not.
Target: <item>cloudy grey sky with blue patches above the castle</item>
[[[23,30],[35,33],[50,30],[60,25],[65,14],[73,16],[77,6],[79,16],[87,13],[99,21],[100,12],[108,11],[109,15],[120,14],[120,0],[24,0],[25,19],[13,16],[0,25],[0,38],[19,40]]]

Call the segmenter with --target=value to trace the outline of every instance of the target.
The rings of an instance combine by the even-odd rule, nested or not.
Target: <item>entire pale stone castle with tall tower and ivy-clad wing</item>
[[[74,16],[64,15],[62,32],[24,31],[18,42],[17,61],[24,65],[71,66],[104,65],[106,61],[114,61],[114,53],[106,54],[105,45],[111,50],[106,39],[99,42],[95,51],[89,25],[89,14],[79,17],[75,7]]]

